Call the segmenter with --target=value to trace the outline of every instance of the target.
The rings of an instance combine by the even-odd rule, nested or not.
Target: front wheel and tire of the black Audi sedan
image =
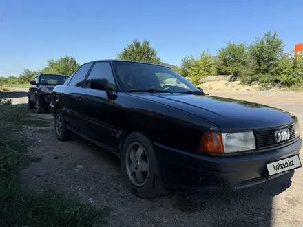
[[[140,152],[139,148],[143,151]],[[143,155],[138,158],[138,153],[143,153]],[[140,171],[146,168],[146,163],[148,171]],[[166,191],[167,185],[153,143],[142,133],[134,132],[126,138],[122,148],[121,167],[124,182],[134,195],[147,199]]]

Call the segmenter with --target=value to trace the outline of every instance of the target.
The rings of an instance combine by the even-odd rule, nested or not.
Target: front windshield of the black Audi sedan
[[[199,91],[174,70],[160,65],[117,61],[114,63],[123,87],[129,91],[187,93]]]

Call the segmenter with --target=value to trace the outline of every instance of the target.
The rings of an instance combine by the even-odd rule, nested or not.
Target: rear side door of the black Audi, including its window
[[[81,65],[74,73],[70,82],[60,96],[60,105],[67,125],[81,131],[83,118],[79,118],[79,90],[81,89],[85,76],[89,72],[92,63]]]

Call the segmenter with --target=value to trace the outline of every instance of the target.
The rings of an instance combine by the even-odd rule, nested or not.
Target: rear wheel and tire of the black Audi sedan
[[[57,109],[54,114],[54,131],[56,133],[56,138],[60,141],[70,140],[72,136],[72,131],[66,127],[61,109]]]

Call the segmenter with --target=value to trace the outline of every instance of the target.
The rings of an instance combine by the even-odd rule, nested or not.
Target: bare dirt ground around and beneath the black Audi
[[[23,92],[23,91],[21,91]],[[209,91],[222,96],[260,102],[297,115],[303,135],[303,94],[278,91]],[[13,98],[13,103],[27,97]],[[31,114],[32,118],[38,116]],[[74,136],[59,142],[52,114],[39,114],[50,127],[30,127],[30,155],[41,159],[21,172],[25,188],[49,188],[75,195],[111,213],[107,226],[302,226],[303,169],[292,182],[278,179],[231,193],[169,191],[154,199],[140,199],[123,184],[121,162],[89,142]],[[302,150],[303,151],[303,150]],[[303,160],[303,152],[300,158]]]

